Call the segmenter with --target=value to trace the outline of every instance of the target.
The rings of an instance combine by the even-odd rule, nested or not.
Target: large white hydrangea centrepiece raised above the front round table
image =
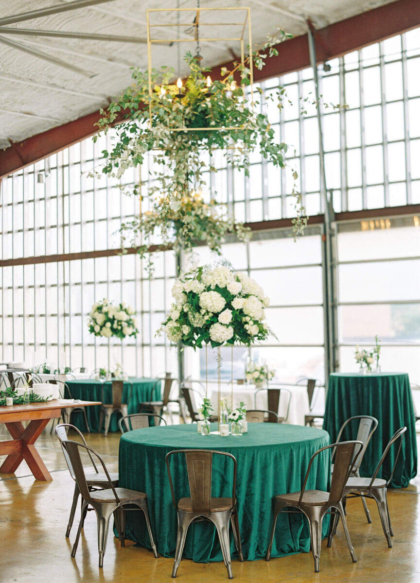
[[[181,273],[172,288],[174,303],[158,333],[173,343],[213,348],[238,342],[249,346],[265,340],[269,330],[264,308],[268,297],[246,273],[225,265],[200,266]]]

